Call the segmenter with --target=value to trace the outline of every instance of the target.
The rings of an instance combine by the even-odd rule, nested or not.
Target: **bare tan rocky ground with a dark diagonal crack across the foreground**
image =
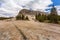
[[[0,21],[0,40],[60,40],[60,25],[31,21]]]

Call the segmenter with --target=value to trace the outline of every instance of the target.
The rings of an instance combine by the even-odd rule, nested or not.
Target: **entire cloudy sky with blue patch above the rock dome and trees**
[[[60,0],[0,0],[0,16],[16,16],[23,8],[49,12],[53,4],[59,14]]]

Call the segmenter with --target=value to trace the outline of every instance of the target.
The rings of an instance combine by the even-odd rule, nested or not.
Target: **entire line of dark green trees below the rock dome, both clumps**
[[[48,22],[48,23],[59,23],[60,21],[60,15],[57,14],[56,8],[53,6],[51,8],[51,12],[48,15],[44,15],[41,13],[37,13],[35,15],[35,19],[39,22]],[[24,14],[19,14],[16,16],[16,20],[29,20],[28,16],[25,16]]]

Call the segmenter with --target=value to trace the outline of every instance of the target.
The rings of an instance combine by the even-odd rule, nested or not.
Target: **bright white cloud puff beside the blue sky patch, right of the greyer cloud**
[[[51,0],[39,0],[33,5],[33,8],[45,10],[49,4],[52,4]]]

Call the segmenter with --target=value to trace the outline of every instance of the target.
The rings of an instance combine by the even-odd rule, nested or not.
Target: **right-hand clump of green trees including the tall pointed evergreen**
[[[46,20],[49,20],[48,22],[50,23],[59,23],[60,21],[60,16],[57,14],[56,8],[54,6],[52,7],[49,15],[46,16],[46,15],[36,14],[35,18],[39,22],[44,22]]]

